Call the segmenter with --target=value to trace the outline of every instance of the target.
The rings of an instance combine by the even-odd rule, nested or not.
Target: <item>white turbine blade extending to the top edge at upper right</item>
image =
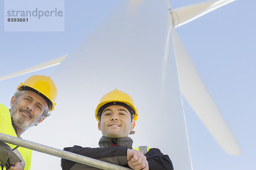
[[[172,10],[177,28],[235,0],[208,0]]]

